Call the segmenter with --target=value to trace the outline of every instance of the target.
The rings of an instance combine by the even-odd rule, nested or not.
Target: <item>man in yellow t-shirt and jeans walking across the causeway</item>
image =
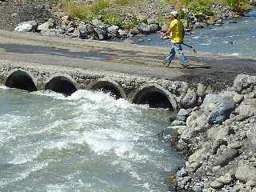
[[[167,35],[170,35],[172,46],[170,48],[170,54],[166,57],[166,66],[170,66],[170,62],[175,57],[175,54],[178,54],[179,62],[184,68],[188,65],[187,59],[182,50],[182,43],[184,39],[184,26],[183,23],[178,19],[178,11],[173,10],[170,12],[170,27],[166,33],[161,35],[161,38],[166,38]]]

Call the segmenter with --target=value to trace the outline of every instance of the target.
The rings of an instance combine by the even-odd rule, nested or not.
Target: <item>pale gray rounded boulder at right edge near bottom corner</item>
[[[256,181],[256,168],[248,165],[238,166],[235,177],[242,182]]]

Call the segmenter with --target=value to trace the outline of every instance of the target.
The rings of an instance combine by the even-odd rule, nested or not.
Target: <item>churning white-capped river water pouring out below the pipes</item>
[[[78,90],[0,88],[0,191],[166,191],[167,110]]]

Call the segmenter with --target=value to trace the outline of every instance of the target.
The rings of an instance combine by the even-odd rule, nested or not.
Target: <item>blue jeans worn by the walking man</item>
[[[186,59],[186,57],[185,57],[185,55],[183,53],[183,50],[182,50],[182,43],[174,43],[170,47],[170,53],[166,57],[166,62],[168,64],[168,66],[170,65],[170,62],[174,59],[175,54],[178,54],[179,62],[183,66],[186,66],[187,65],[187,59]]]

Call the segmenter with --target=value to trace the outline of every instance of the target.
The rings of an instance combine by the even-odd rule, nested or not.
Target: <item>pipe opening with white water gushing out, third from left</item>
[[[122,98],[122,94],[120,93],[118,88],[116,88],[116,86],[114,86],[110,82],[98,82],[96,85],[92,87],[92,89],[101,90],[105,94],[110,94],[110,96],[115,99]]]

